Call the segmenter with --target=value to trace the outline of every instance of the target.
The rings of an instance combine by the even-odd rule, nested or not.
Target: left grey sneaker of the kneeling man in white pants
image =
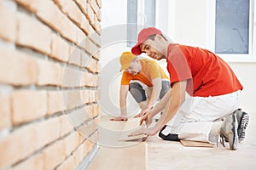
[[[237,149],[237,127],[238,124],[234,113],[224,117],[224,122],[220,128],[220,137],[221,139],[226,139],[229,142],[230,150]],[[224,140],[222,140],[221,143],[224,145]]]

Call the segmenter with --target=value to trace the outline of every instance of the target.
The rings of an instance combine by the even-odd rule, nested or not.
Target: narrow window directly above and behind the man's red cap
[[[155,0],[127,0],[127,23],[127,47],[132,47],[142,27],[155,26]]]

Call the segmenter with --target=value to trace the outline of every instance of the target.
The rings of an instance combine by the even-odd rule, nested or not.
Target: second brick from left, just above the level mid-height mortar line
[[[61,86],[62,69],[61,65],[37,59],[38,62],[38,81],[39,86],[55,85]]]

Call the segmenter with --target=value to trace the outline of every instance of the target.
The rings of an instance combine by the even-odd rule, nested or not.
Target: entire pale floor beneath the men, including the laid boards
[[[225,148],[185,147],[158,136],[122,142],[120,133],[134,130],[138,119],[109,122],[109,116],[102,116],[99,150],[88,169],[256,169],[256,113],[249,116],[246,139],[238,150],[230,150],[228,143]]]

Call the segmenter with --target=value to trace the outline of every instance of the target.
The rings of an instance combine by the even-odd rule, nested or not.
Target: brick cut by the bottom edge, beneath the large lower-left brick
[[[24,169],[44,170],[44,161],[42,154],[31,156],[26,161],[22,161],[21,163],[15,165],[15,167],[12,167],[12,170]]]

